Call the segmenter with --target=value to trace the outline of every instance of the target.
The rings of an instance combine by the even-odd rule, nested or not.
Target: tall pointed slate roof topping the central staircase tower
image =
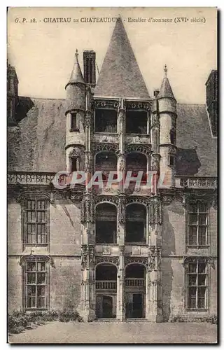
[[[120,18],[99,73],[95,96],[149,99],[148,90]]]

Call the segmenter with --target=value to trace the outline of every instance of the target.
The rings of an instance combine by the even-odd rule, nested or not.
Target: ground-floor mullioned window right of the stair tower
[[[207,309],[208,307],[208,266],[200,260],[189,261],[186,265],[187,309]]]

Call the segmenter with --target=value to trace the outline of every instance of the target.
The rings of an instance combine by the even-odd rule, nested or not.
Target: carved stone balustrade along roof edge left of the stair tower
[[[47,172],[8,172],[8,185],[49,185],[55,173]]]

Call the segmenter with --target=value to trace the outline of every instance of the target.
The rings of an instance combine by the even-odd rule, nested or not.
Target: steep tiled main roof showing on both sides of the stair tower
[[[8,132],[8,169],[57,172],[66,167],[66,100],[20,97],[18,127]],[[216,176],[216,139],[204,104],[178,104],[177,174]]]

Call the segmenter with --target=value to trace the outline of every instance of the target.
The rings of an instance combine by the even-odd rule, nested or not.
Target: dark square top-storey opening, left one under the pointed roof
[[[96,109],[95,132],[117,132],[117,111],[114,109]]]

